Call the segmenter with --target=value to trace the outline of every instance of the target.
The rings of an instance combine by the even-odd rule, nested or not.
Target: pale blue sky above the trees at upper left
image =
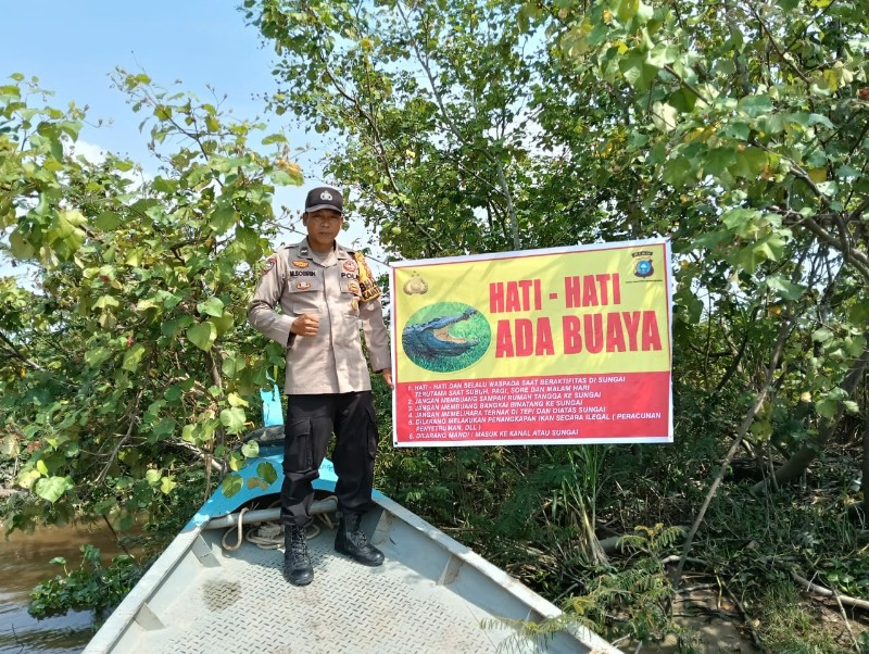
[[[148,152],[147,136],[139,131],[143,115],[134,113],[126,96],[112,88],[109,76],[117,66],[146,73],[164,88],[180,80],[179,89],[201,100],[215,98],[213,92],[216,98],[227,96],[222,108],[236,118],[264,118],[274,130],[288,130],[293,150],[310,147],[313,131],[289,129],[279,117],[265,114],[261,98],[277,88],[272,76],[276,56],[256,29],[245,25],[237,10],[240,1],[0,0],[0,84],[13,73],[27,79],[36,76],[42,88],[54,91],[51,105],[71,101],[88,105],[88,124],[79,140],[95,151],[127,155],[146,173],[155,172],[156,162]],[[281,205],[301,209],[306,190],[324,183],[311,161],[302,158],[299,163],[305,185],[276,192],[276,212]],[[362,225],[352,217],[349,224],[339,241],[368,244]],[[293,225],[301,228],[298,221]],[[287,232],[277,242],[299,238]],[[0,262],[0,275],[13,272]]]

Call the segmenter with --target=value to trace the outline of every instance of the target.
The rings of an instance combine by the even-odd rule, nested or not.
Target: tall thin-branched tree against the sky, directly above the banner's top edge
[[[541,51],[514,3],[244,7],[280,55],[275,111],[347,137],[325,169],[356,191],[354,210],[387,249],[441,256],[588,236],[583,189],[558,184],[564,153],[536,152],[528,89]]]

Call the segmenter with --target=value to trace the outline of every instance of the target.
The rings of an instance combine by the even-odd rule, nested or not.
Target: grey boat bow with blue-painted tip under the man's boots
[[[230,549],[222,546],[227,534],[241,531],[240,523],[250,532],[278,515],[268,502],[277,499],[282,481],[284,428],[257,432],[260,455],[241,474],[252,478],[259,463],[269,462],[278,479],[265,490],[245,483],[231,499],[217,491],[112,613],[85,654],[619,654],[576,626],[555,632],[522,629],[557,617],[558,608],[379,492],[363,527],[386,554],[380,567],[366,568],[337,554],[328,521],[318,534],[308,533],[315,576],[306,587],[285,581],[280,551],[247,540],[234,550],[235,538],[228,539]],[[325,516],[336,507],[328,499],[335,482],[326,461],[315,482],[315,507]]]

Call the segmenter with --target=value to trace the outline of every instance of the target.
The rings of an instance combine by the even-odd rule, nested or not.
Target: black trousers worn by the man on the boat
[[[311,520],[312,481],[319,477],[332,431],[338,511],[362,514],[370,507],[378,439],[371,391],[288,395],[280,490],[285,525],[303,527]]]

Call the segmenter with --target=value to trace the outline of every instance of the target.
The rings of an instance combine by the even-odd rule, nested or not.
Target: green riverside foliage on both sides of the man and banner
[[[391,256],[672,239],[672,448],[382,448],[382,490],[622,644],[676,633],[690,650],[672,609],[690,574],[771,651],[869,646],[849,605],[857,621],[831,634],[793,593],[799,578],[869,599],[860,3],[242,12],[278,58],[270,109],[316,133]],[[177,149],[160,176],[76,158],[81,112],[0,87],[0,228],[39,271],[0,282],[2,469],[39,499],[16,526],[177,515],[182,490],[241,463],[234,438],[281,365],[243,315],[273,187],[301,181],[282,137],[266,158],[254,126],[118,84],[154,148]]]

